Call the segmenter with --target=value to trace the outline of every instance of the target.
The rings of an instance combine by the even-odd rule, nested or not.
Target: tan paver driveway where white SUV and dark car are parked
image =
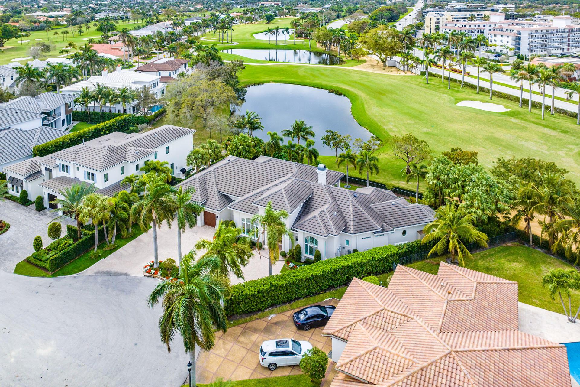
[[[333,298],[318,305],[336,306],[338,302],[338,299]],[[297,310],[275,314],[270,319],[265,317],[254,320],[219,334],[213,349],[201,352],[197,358],[197,382],[211,383],[216,378],[241,380],[302,373],[299,366],[278,367],[270,371],[262,367],[258,359],[258,350],[263,341],[281,338],[309,341],[326,353],[331,351],[331,338],[322,337],[322,327],[307,332],[296,329],[292,314]]]

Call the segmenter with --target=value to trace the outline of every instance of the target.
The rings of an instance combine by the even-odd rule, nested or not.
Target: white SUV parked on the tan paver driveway
[[[279,339],[264,341],[260,346],[260,364],[270,371],[279,366],[296,366],[306,351],[312,349],[307,341]]]

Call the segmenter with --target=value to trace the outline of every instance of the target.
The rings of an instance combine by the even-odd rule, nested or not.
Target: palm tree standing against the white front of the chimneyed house
[[[258,223],[262,226],[262,232],[258,234],[258,240],[260,235],[262,240],[266,239],[266,246],[268,247],[268,269],[270,276],[272,275],[272,265],[274,262],[280,259],[280,243],[282,238],[287,236],[290,243],[293,243],[293,233],[288,226],[286,226],[285,220],[288,219],[288,212],[284,210],[276,211],[272,208],[272,202],[269,201],[264,208],[264,214],[256,214],[252,216],[252,224]],[[258,249],[258,254],[260,254],[260,249]],[[260,254],[260,256],[262,256]]]

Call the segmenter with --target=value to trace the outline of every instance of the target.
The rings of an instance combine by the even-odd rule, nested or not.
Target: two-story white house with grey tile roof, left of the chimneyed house
[[[142,173],[139,169],[147,161],[166,161],[172,175],[183,176],[181,171],[186,168],[186,156],[193,149],[194,132],[172,125],[145,133],[113,132],[10,165],[4,172],[10,193],[16,195],[16,187],[26,189],[31,200],[42,195],[45,207],[56,208],[51,202],[62,198],[61,190],[74,183],[94,184],[97,192],[107,196],[129,190],[130,187],[121,185],[121,180],[133,173]]]

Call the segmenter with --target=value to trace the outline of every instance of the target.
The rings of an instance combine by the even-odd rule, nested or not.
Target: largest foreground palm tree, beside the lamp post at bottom
[[[148,305],[153,308],[163,298],[163,313],[159,319],[161,341],[171,352],[175,332],[183,339],[189,353],[189,379],[195,387],[195,346],[210,350],[215,345],[216,328],[227,331],[227,316],[223,308],[227,283],[211,273],[221,265],[215,256],[194,260],[194,251],[183,257],[179,278],[161,281],[149,295]]]

